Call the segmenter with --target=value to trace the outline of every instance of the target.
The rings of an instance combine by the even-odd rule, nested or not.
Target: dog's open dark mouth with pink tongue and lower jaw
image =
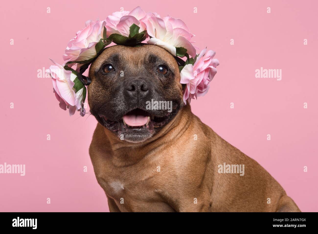
[[[177,107],[174,106],[171,112],[160,112],[156,115],[148,110],[133,109],[122,116],[119,121],[108,120],[106,116],[100,115],[104,126],[117,132],[121,140],[129,142],[140,142],[151,137],[156,129],[160,129],[167,124],[177,113]]]

